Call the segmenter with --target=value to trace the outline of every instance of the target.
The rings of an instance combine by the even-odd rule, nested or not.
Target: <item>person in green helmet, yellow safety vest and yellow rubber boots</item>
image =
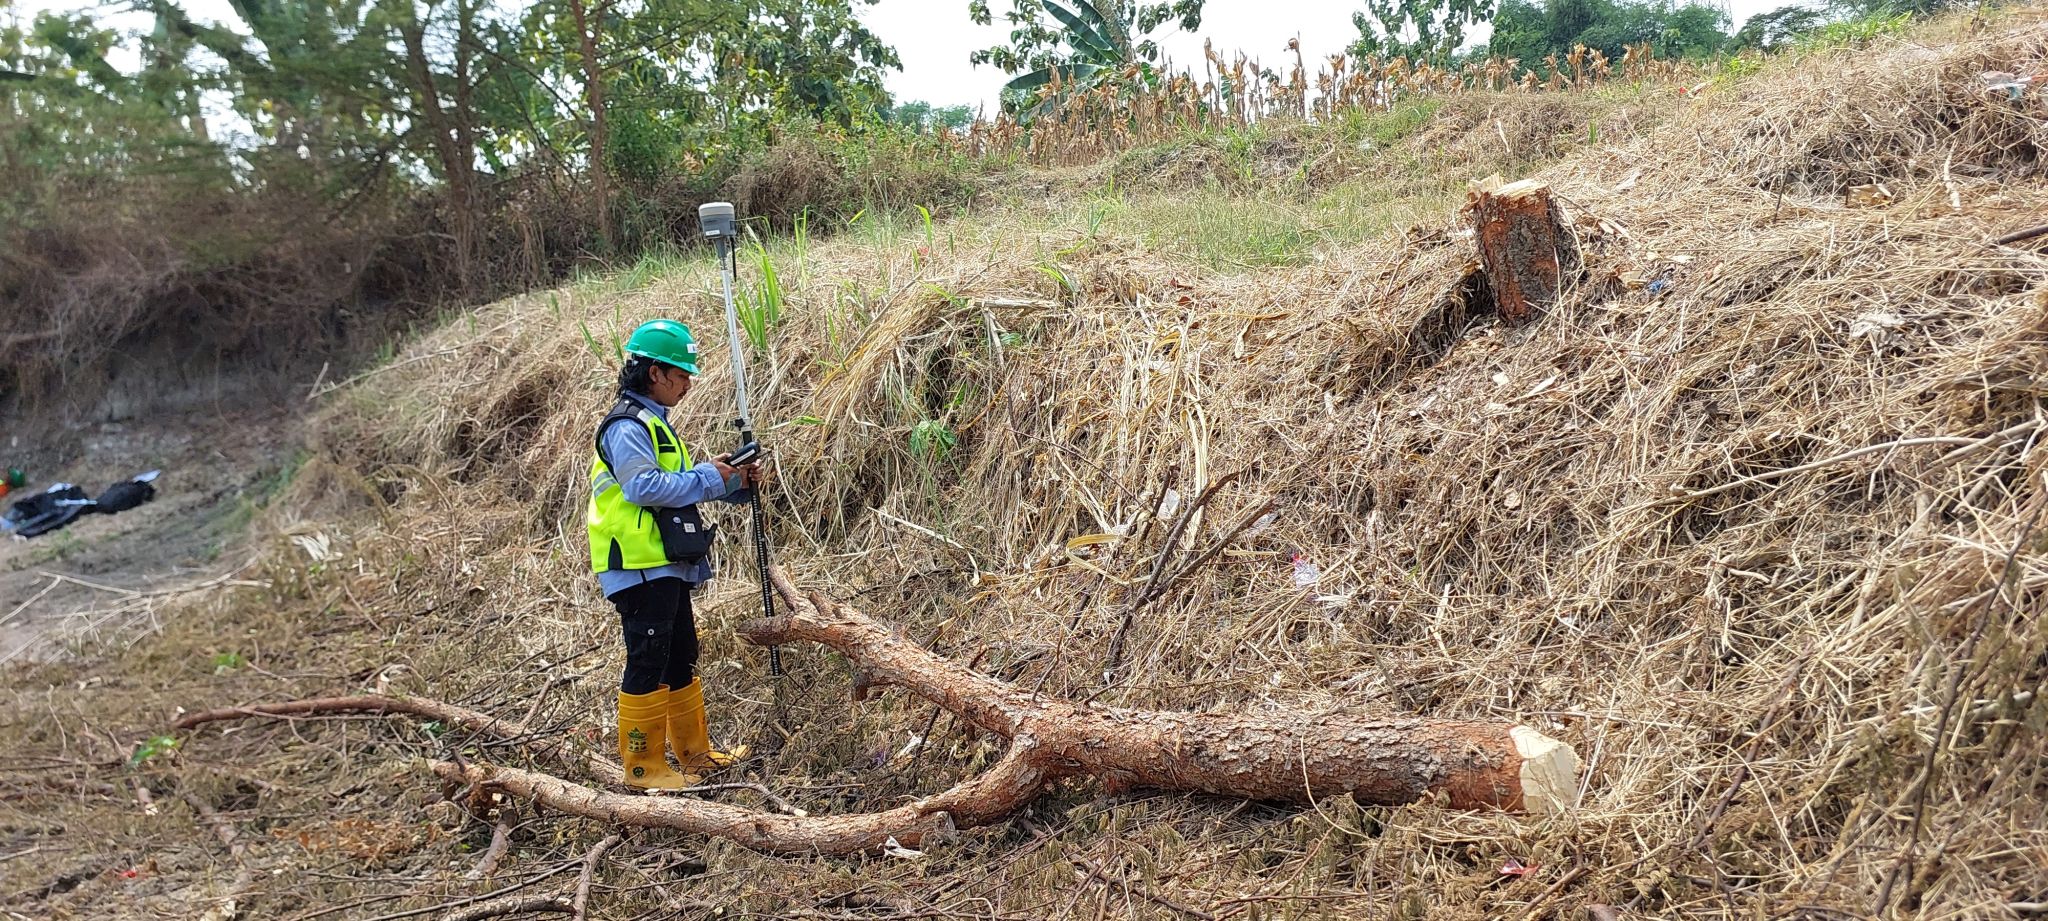
[[[690,594],[711,579],[711,532],[702,501],[748,501],[758,465],[727,454],[692,465],[668,426],[668,409],[690,393],[696,340],[674,319],[651,319],[627,338],[618,401],[598,424],[590,463],[590,569],[618,608],[627,669],[618,682],[618,759],[629,786],[680,790],[745,757],[711,747],[705,690],[696,677]],[[670,768],[664,743],[682,772]]]

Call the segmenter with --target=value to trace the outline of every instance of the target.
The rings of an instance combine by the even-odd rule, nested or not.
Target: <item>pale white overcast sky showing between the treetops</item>
[[[1726,2],[1737,25],[1753,12],[1782,6],[1788,0],[1710,0]],[[96,0],[16,0],[16,8],[27,16],[37,10],[84,10],[100,8]],[[199,18],[233,18],[227,0],[184,0],[184,6]],[[926,100],[940,106],[967,104],[995,108],[995,94],[1006,76],[995,68],[973,68],[967,53],[989,47],[1008,35],[1001,23],[1006,0],[989,0],[995,10],[995,25],[977,27],[967,18],[967,0],[881,0],[874,6],[860,6],[860,16],[895,45],[903,57],[903,70],[889,74],[889,92],[897,100]],[[1165,55],[1182,68],[1202,68],[1202,39],[1214,41],[1227,57],[1243,51],[1266,68],[1286,74],[1292,55],[1286,43],[1300,37],[1300,51],[1309,70],[1317,61],[1343,51],[1358,29],[1352,27],[1352,12],[1364,8],[1362,0],[1208,0],[1202,10],[1202,29],[1194,35],[1171,31],[1163,37]],[[1468,39],[1483,41],[1489,29],[1477,29]]]

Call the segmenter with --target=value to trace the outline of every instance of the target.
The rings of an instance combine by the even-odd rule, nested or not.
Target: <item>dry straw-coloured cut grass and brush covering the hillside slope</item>
[[[780,299],[756,415],[797,585],[1051,700],[1526,722],[1585,761],[1575,810],[1079,784],[922,851],[788,860],[668,831],[612,847],[483,788],[457,796],[481,821],[430,802],[422,755],[600,780],[582,753],[608,745],[618,661],[578,536],[590,426],[612,336],[719,327],[707,262],[506,301],[332,397],[293,491],[350,524],[291,526],[332,540],[272,559],[262,618],[242,598],[164,643],[319,649],[264,661],[274,679],[137,679],[195,710],[375,690],[504,725],[201,729],[135,784],[266,817],[231,860],[340,872],[324,898],[371,915],[487,892],[455,882],[473,862],[451,841],[494,821],[526,876],[610,847],[604,917],[2040,911],[2048,258],[1989,239],[2048,213],[2048,100],[1980,74],[2042,70],[2048,29],[1964,29],[1657,90],[1655,129],[1534,176],[1583,274],[1520,325],[1448,213],[1241,274],[1042,207],[770,244],[780,293],[743,266],[750,303]],[[713,358],[678,432],[723,450],[729,397]],[[791,647],[774,727],[733,641],[758,614],[735,555],[700,604],[713,714],[780,753],[715,778],[774,796],[702,796],[877,813],[1001,763],[915,698],[850,704],[858,675],[819,647]],[[176,872],[127,898],[219,896]],[[266,915],[324,907],[252,886]]]

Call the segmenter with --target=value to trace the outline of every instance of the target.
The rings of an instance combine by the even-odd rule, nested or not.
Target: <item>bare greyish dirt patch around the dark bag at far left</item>
[[[88,495],[162,469],[156,501],[119,516],[80,516],[37,538],[0,538],[0,665],[51,659],[80,639],[139,643],[156,606],[225,585],[248,557],[250,514],[291,469],[299,424],[289,407],[186,407],[123,422],[8,420],[0,467],[29,485],[4,501],[76,483]]]

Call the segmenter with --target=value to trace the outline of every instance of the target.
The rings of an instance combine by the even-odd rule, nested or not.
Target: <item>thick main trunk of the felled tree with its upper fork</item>
[[[1026,761],[1040,784],[1098,776],[1282,802],[1352,794],[1368,804],[1403,804],[1444,794],[1454,808],[1532,813],[1567,808],[1577,788],[1579,761],[1569,745],[1507,722],[1169,712],[1047,700],[942,659],[858,610],[803,596],[778,569],[770,577],[788,614],[741,624],[741,639],[831,647],[854,661],[870,688],[903,688],[1010,739],[1006,761]]]

